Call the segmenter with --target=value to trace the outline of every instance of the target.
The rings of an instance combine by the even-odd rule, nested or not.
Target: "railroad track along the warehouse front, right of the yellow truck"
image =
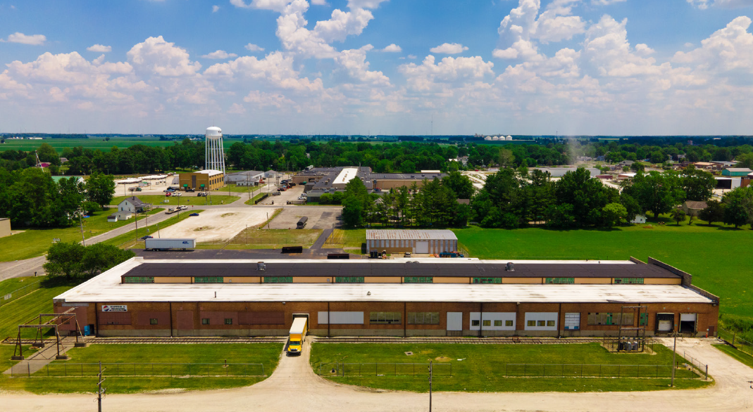
[[[313,338],[324,344],[590,344],[602,338]]]

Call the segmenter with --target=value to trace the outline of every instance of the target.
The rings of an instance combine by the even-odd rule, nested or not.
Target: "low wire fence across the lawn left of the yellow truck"
[[[267,376],[261,363],[102,363],[105,377]],[[11,377],[96,377],[99,363],[53,362],[32,372],[29,363],[11,368]]]

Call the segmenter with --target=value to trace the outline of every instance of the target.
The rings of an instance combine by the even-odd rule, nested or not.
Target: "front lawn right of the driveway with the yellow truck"
[[[468,391],[468,392],[539,392],[539,391],[630,391],[668,389],[669,379],[635,379],[626,375],[641,377],[655,377],[657,368],[652,365],[662,365],[659,368],[660,377],[669,377],[672,365],[672,351],[660,344],[654,345],[655,355],[648,354],[615,354],[608,353],[599,344],[562,344],[562,345],[473,345],[473,344],[314,344],[312,347],[311,365],[314,371],[319,371],[319,362],[399,362],[401,373],[397,377],[395,365],[380,365],[376,371],[373,363],[362,365],[363,376],[349,376],[358,374],[358,365],[346,366],[345,377],[329,377],[335,382],[360,386],[370,386],[381,389],[410,390],[426,392],[427,368],[416,367],[413,376],[411,363],[426,364],[434,362],[434,390],[436,391]],[[407,356],[405,352],[413,352]],[[458,360],[462,359],[462,360]],[[452,364],[452,377],[449,366]],[[682,362],[682,361],[678,361]],[[522,366],[506,364],[528,363],[527,374],[541,377],[525,378]],[[544,377],[546,372],[541,364],[577,364],[577,367],[565,369],[571,377]],[[443,365],[444,364],[444,365]],[[536,364],[536,365],[532,365]],[[581,379],[581,364],[608,365],[603,366],[602,376],[611,378]],[[537,366],[538,365],[538,366]],[[620,365],[619,372],[617,365]],[[642,368],[622,365],[645,365]],[[323,367],[322,374],[329,375],[329,368]],[[559,374],[562,367],[550,365],[548,376]],[[507,370],[507,372],[505,372]],[[598,376],[598,367],[584,366],[584,376]],[[370,374],[370,376],[366,376]],[[505,373],[509,376],[505,377]],[[617,379],[617,374],[621,379]],[[383,374],[385,376],[376,376]],[[392,375],[392,376],[390,376]],[[678,369],[677,377],[696,376]],[[697,388],[709,383],[700,380],[678,379],[678,388]]]

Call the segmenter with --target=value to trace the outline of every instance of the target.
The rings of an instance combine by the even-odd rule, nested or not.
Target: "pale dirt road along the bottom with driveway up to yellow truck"
[[[611,393],[434,393],[434,410],[440,411],[662,411],[738,412],[753,410],[753,369],[736,362],[711,347],[710,341],[678,341],[678,352],[709,363],[717,381],[707,389],[663,392]],[[352,386],[339,386],[323,380],[309,368],[310,347],[300,357],[282,356],[270,378],[240,389],[154,395],[109,395],[108,411],[247,411],[327,410],[363,412],[367,410],[410,411],[428,409],[428,395],[407,392],[380,392]],[[5,410],[89,410],[93,395],[2,394]]]

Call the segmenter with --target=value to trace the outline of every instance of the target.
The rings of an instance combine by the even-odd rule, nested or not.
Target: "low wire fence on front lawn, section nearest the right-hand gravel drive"
[[[672,365],[587,365],[505,363],[507,377],[671,377]],[[679,368],[675,377],[695,378],[689,369]]]

